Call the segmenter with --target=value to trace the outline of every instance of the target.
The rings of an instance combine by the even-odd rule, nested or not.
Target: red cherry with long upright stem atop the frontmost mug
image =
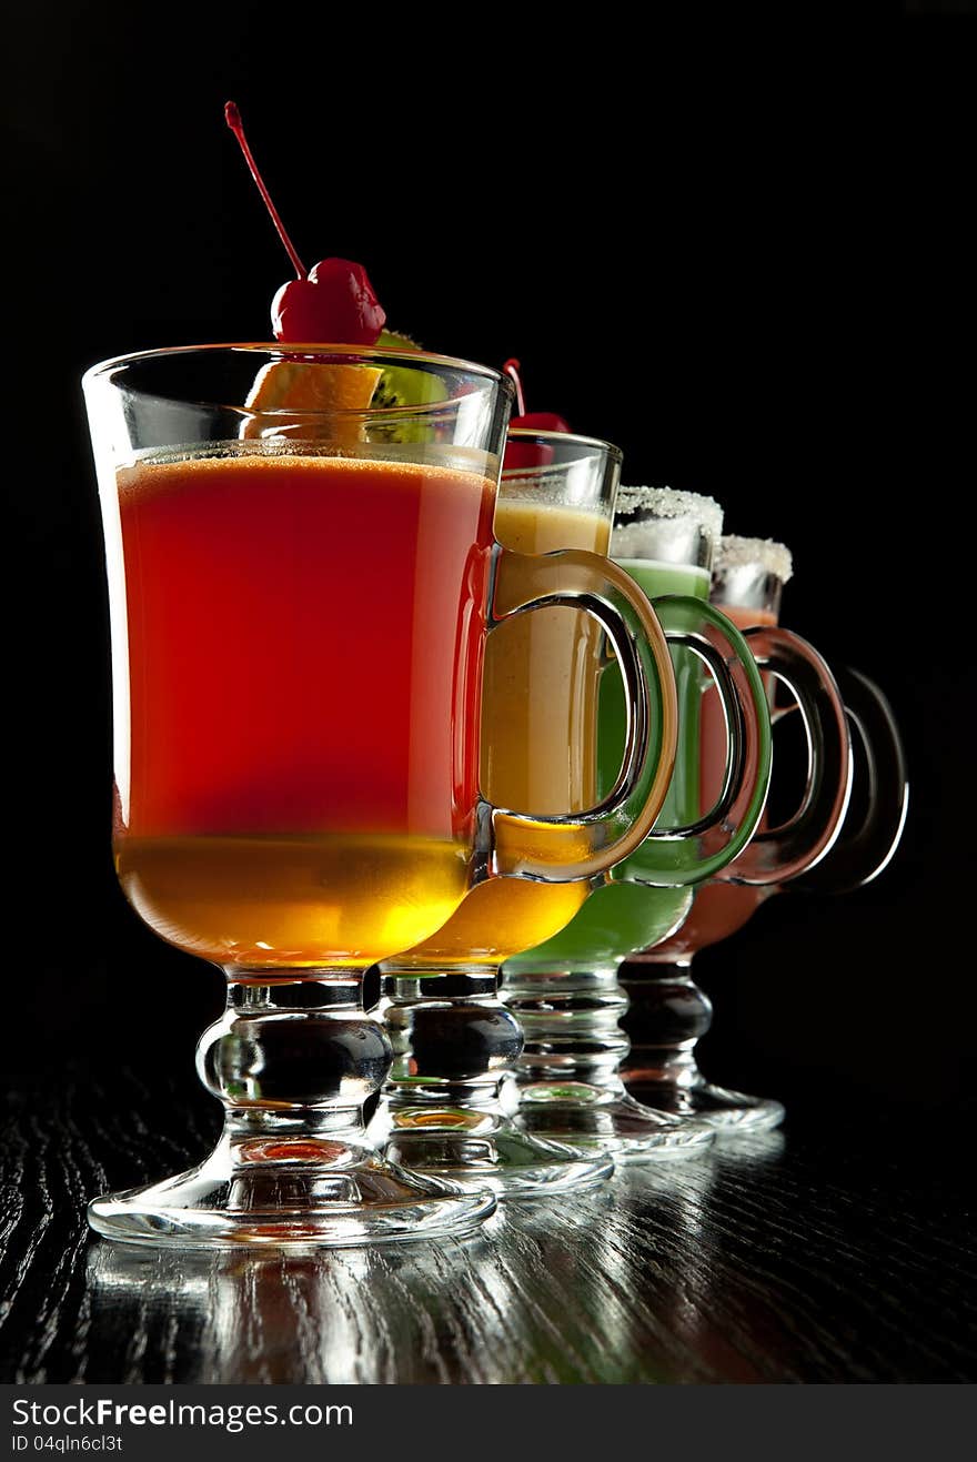
[[[233,101],[224,105],[224,120],[237,137],[244,161],[265,200],[278,237],[295,269],[272,300],[272,329],[276,341],[294,344],[376,345],[386,311],[373,292],[363,265],[350,259],[320,259],[306,269],[285,232],[244,136],[241,114]]]

